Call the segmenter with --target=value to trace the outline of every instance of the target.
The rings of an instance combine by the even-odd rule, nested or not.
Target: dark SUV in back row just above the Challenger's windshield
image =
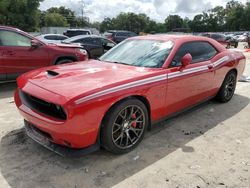
[[[109,30],[104,33],[104,36],[115,43],[119,43],[129,37],[137,36],[137,34],[131,31]]]

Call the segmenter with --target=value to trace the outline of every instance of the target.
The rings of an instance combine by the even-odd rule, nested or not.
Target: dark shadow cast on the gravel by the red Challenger
[[[154,126],[134,151],[113,155],[104,150],[82,158],[63,158],[27,138],[23,129],[5,135],[0,144],[0,170],[13,188],[111,187],[177,149],[195,152],[193,139],[239,113],[249,98],[235,95],[226,104],[203,103]]]

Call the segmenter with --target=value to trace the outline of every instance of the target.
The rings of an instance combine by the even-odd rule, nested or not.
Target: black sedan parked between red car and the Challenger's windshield
[[[97,35],[79,35],[62,41],[64,44],[80,44],[87,52],[89,58],[96,59],[113,48],[116,43]]]

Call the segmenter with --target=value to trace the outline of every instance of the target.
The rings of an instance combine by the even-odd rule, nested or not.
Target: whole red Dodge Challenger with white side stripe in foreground
[[[99,60],[23,74],[15,103],[27,135],[58,154],[121,154],[153,123],[211,98],[228,102],[244,67],[242,53],[213,39],[134,37]]]

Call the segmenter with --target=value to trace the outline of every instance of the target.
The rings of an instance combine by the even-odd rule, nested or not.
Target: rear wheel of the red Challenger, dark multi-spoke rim
[[[236,73],[234,71],[228,72],[215,99],[222,103],[230,101],[234,95],[236,82]]]

